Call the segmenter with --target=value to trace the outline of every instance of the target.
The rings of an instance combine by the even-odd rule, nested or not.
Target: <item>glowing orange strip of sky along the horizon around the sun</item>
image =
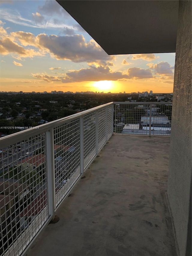
[[[23,79],[24,80],[24,79]],[[56,90],[63,92],[144,92],[145,88],[152,90],[153,93],[171,93],[173,92],[173,83],[164,83],[155,80],[129,80],[129,81],[90,81],[79,83],[46,83],[41,80],[25,79],[23,83],[19,78],[1,78],[0,91],[4,92],[51,92]],[[38,83],[35,83],[38,82]]]

